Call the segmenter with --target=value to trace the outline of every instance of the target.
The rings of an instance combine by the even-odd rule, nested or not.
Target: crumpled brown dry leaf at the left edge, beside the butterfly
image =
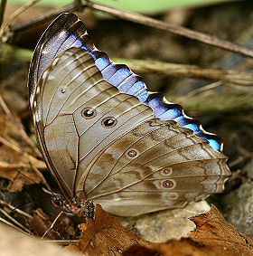
[[[42,176],[33,167],[42,169],[45,164],[26,153],[29,147],[23,146],[18,128],[6,115],[0,116],[0,127],[0,177],[10,180],[8,190],[17,192],[23,185],[40,183]]]

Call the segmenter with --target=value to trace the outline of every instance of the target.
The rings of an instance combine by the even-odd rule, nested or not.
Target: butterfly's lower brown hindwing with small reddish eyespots
[[[173,121],[146,120],[103,148],[76,194],[121,216],[182,207],[223,190],[227,157]]]

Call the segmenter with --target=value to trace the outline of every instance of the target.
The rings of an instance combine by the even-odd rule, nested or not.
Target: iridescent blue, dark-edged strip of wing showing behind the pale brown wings
[[[183,113],[179,104],[173,104],[159,93],[149,93],[145,82],[126,65],[112,62],[105,52],[100,52],[92,43],[84,24],[75,14],[61,14],[43,33],[37,44],[31,62],[29,75],[30,106],[33,112],[33,98],[37,82],[47,65],[59,53],[71,47],[84,49],[94,60],[103,78],[111,85],[129,95],[136,96],[145,105],[153,109],[158,119],[174,120],[183,128],[190,128],[198,137],[210,142],[211,147],[222,151],[219,137],[206,132],[201,124]]]

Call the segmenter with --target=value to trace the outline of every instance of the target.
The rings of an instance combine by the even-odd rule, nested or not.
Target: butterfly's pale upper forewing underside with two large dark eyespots
[[[99,151],[154,118],[150,108],[108,84],[88,52],[78,48],[62,52],[43,71],[33,111],[42,154],[67,197],[75,195],[76,177],[86,174]]]

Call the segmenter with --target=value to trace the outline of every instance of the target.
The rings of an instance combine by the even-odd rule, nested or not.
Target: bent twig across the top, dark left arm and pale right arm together
[[[150,18],[148,16],[145,16],[143,14],[134,14],[122,10],[117,10],[112,7],[108,7],[105,5],[99,5],[95,4],[89,1],[84,1],[85,4],[80,4],[80,1],[75,1],[75,3],[66,5],[64,7],[58,8],[49,14],[43,14],[40,16],[37,16],[33,19],[28,20],[27,22],[24,22],[22,24],[16,24],[11,28],[11,31],[14,33],[21,32],[23,30],[27,30],[31,27],[34,27],[38,24],[42,24],[46,21],[51,20],[53,17],[57,16],[58,14],[64,13],[64,12],[74,12],[74,11],[80,11],[86,6],[89,6],[90,8],[94,10],[98,10],[107,14],[114,15],[121,19],[126,19],[128,21],[132,21],[137,24],[144,24],[146,26],[154,27],[158,30],[164,31],[166,33],[174,33],[178,35],[182,35],[184,37],[191,38],[193,40],[207,43],[213,46],[217,46],[226,50],[229,50],[231,52],[238,52],[242,55],[246,55],[248,57],[253,57],[253,50],[251,50],[248,47],[240,46],[236,43],[230,43],[227,40],[220,39],[216,36],[212,36],[207,33],[201,33],[196,32],[191,29],[185,28],[183,26],[179,25],[173,25],[173,24],[166,24],[162,21],[155,20],[153,18]]]

